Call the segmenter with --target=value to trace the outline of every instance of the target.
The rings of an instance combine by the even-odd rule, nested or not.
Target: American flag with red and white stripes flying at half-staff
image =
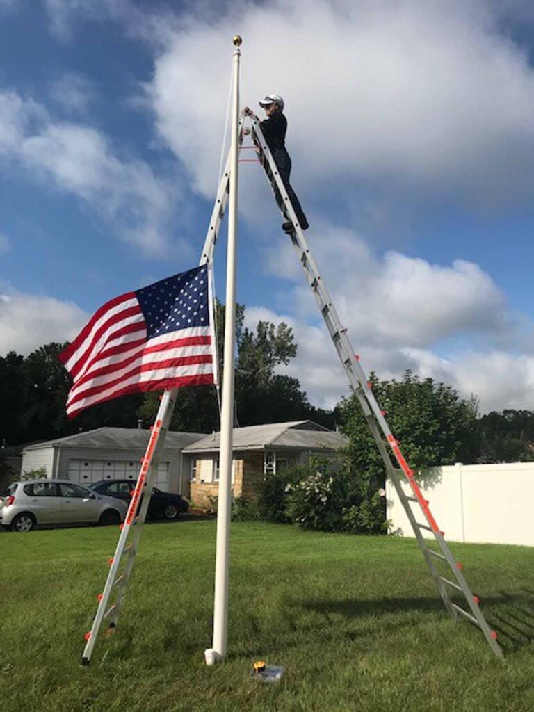
[[[105,303],[59,356],[73,377],[67,414],[127,393],[213,383],[206,265]]]

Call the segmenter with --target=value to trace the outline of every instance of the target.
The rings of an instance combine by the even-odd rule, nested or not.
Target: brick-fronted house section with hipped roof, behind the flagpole
[[[184,447],[192,460],[190,498],[197,506],[211,506],[218,496],[220,442],[220,433],[214,433]],[[304,463],[312,454],[333,456],[346,445],[344,435],[310,420],[234,428],[232,493],[254,497],[269,473]]]

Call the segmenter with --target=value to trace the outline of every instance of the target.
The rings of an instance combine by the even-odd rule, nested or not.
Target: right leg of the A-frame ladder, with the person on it
[[[488,622],[478,606],[478,597],[474,596],[471,592],[466,577],[462,573],[461,564],[455,560],[451,550],[446,544],[444,533],[439,529],[429,509],[428,502],[422,496],[419,485],[414,478],[414,471],[404,459],[399,444],[392,435],[384,418],[384,411],[382,411],[377,404],[375,395],[370,387],[370,382],[367,380],[365,372],[360,365],[360,359],[355,355],[350,345],[347,330],[342,326],[337,310],[332,303],[330,293],[310,252],[308,242],[305,239],[302,229],[300,229],[297,216],[295,215],[283,181],[278,174],[278,169],[271,150],[269,150],[266,140],[263,137],[260,122],[256,116],[251,116],[250,120],[252,124],[252,140],[256,146],[256,152],[258,153],[263,171],[266,174],[268,182],[271,184],[275,198],[276,189],[278,189],[282,203],[280,207],[284,219],[293,223],[293,231],[290,233],[290,239],[297,253],[298,261],[303,268],[320,313],[325,320],[328,333],[334,342],[337,355],[340,357],[349,383],[352,389],[354,389],[365,419],[367,420],[367,424],[372,432],[372,436],[375,439],[379,453],[384,461],[387,476],[389,476],[392,481],[397,496],[407,513],[409,522],[414,530],[415,538],[422,551],[426,565],[429,567],[436,588],[451,616],[454,619],[458,619],[459,616],[464,617],[478,626],[486,637],[493,653],[499,658],[503,658],[503,651],[496,640],[497,634],[488,626]],[[392,456],[390,456],[390,454]],[[394,459],[392,459],[392,457]],[[394,463],[397,464],[397,467],[394,466]],[[412,496],[407,496],[407,494],[404,493],[399,479],[403,475],[409,482],[409,486],[412,489]],[[418,518],[421,518],[421,515],[424,518],[424,523],[418,520]],[[424,538],[422,530],[431,532],[434,535],[439,550],[435,550],[428,545],[428,540]],[[452,575],[450,572],[447,574],[448,577],[441,575],[440,566],[446,567],[447,570],[452,572]],[[451,600],[449,590],[456,592],[457,595],[465,599],[468,610],[457,605],[454,600]]]

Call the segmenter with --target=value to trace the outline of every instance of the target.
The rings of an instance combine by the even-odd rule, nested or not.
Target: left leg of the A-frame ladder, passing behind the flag
[[[243,120],[239,122],[239,144],[243,138]],[[226,167],[217,189],[214,209],[209,221],[209,227],[202,249],[200,265],[211,264],[213,253],[221,221],[229,198],[230,179],[230,157],[226,159]],[[85,634],[85,648],[83,649],[81,664],[88,666],[93,654],[93,649],[103,625],[108,625],[108,632],[114,632],[117,627],[117,620],[124,603],[132,569],[135,562],[135,555],[139,547],[143,526],[147,518],[148,505],[154,486],[155,475],[159,458],[165,443],[165,435],[169,427],[169,422],[174,410],[179,389],[171,389],[164,392],[157,412],[154,426],[152,426],[150,439],[145,456],[141,460],[141,468],[132,500],[125,517],[125,521],[120,525],[120,537],[115,548],[115,553],[108,560],[110,570],[105,582],[104,590],[98,594],[98,609],[93,619],[93,624],[89,632]],[[143,493],[148,496],[143,496]]]

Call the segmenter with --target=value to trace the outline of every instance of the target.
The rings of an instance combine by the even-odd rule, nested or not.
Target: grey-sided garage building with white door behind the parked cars
[[[191,461],[183,451],[203,435],[167,432],[155,486],[189,496]],[[68,477],[80,484],[104,479],[135,481],[149,437],[150,430],[103,427],[26,445],[22,450],[21,471],[43,468],[47,477]]]

